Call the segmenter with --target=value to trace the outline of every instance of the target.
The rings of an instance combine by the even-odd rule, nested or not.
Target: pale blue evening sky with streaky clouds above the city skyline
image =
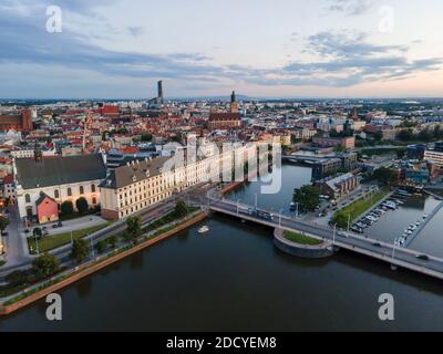
[[[1,0],[0,97],[151,98],[157,80],[166,97],[440,97],[441,13],[441,0]]]

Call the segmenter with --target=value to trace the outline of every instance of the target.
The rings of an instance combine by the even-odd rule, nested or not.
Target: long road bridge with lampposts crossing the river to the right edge
[[[270,228],[280,228],[288,231],[305,233],[318,240],[328,240],[334,247],[443,280],[443,259],[441,258],[406,248],[400,248],[392,243],[382,242],[351,232],[347,232],[347,236],[344,236],[342,232],[337,232],[336,229],[307,223],[281,214],[275,215],[272,220],[260,218],[257,215],[249,215],[247,212],[249,208],[254,207],[231,200],[218,199],[216,197],[208,197],[208,200],[212,211],[268,226]]]

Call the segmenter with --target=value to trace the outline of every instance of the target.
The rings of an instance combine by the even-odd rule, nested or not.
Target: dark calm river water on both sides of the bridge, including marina
[[[310,180],[306,167],[284,165],[282,173],[282,189],[259,195],[260,206],[288,208],[292,189]],[[255,192],[259,183],[231,198],[254,204]],[[430,202],[404,208],[419,216],[432,209]],[[393,225],[388,218],[396,215],[374,227]],[[399,219],[401,231],[409,221]],[[439,251],[442,222],[439,215],[418,244]],[[443,330],[436,280],[344,251],[327,260],[297,259],[274,247],[272,230],[224,216],[203,223],[210,228],[204,236],[196,226],[66,288],[62,321],[45,320],[42,300],[0,320],[0,331]],[[382,293],[394,295],[393,322],[378,319]]]

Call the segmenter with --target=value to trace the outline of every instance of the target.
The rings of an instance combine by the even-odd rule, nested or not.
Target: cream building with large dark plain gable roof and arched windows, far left
[[[19,215],[23,220],[39,215],[42,196],[52,198],[58,206],[70,200],[75,207],[80,197],[90,207],[100,205],[99,185],[106,177],[101,155],[43,158],[39,152],[34,158],[17,159],[14,173]]]

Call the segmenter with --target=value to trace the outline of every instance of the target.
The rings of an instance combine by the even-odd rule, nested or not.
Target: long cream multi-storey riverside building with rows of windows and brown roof
[[[174,165],[174,157],[127,163],[112,170],[100,185],[102,216],[122,219],[197,184],[222,180],[224,171],[230,178],[238,154],[244,154],[245,160],[255,148],[243,146],[182,165]]]

